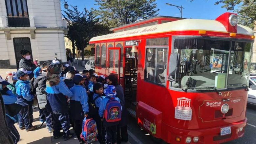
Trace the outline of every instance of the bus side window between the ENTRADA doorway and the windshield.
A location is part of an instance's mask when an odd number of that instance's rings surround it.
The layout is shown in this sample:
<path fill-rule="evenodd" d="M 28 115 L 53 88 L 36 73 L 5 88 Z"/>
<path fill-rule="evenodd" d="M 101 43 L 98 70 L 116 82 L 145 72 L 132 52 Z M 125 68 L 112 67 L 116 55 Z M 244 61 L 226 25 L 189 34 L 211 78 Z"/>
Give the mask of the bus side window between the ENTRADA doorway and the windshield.
<path fill-rule="evenodd" d="M 167 40 L 168 38 L 159 38 L 159 39 L 147 39 L 148 41 L 154 41 L 155 44 L 162 44 L 162 41 Z M 159 41 L 159 42 L 158 42 Z M 146 46 L 146 69 L 145 69 L 145 80 L 158 83 L 161 85 L 166 85 L 167 78 L 167 48 L 166 45 L 157 45 L 152 46 L 150 43 L 147 43 Z"/>

